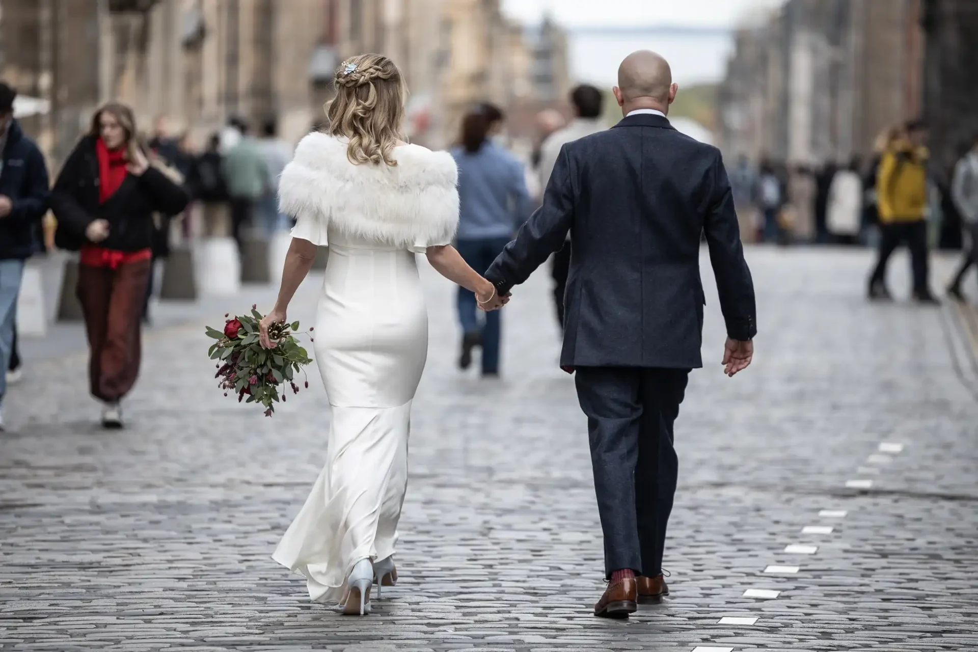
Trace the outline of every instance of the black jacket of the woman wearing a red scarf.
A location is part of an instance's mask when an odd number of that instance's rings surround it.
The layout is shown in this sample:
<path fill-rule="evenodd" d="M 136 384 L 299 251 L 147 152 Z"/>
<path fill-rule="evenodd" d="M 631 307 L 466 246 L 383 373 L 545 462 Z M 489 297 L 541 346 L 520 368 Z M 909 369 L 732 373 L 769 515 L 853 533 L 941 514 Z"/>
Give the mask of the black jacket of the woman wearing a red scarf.
<path fill-rule="evenodd" d="M 68 156 L 51 191 L 51 210 L 58 218 L 55 243 L 77 250 L 87 242 L 85 230 L 96 219 L 109 221 L 109 238 L 99 246 L 138 251 L 153 246 L 154 213 L 176 215 L 190 197 L 152 165 L 141 176 L 127 175 L 105 203 L 99 203 L 99 161 L 94 136 L 86 136 Z"/>

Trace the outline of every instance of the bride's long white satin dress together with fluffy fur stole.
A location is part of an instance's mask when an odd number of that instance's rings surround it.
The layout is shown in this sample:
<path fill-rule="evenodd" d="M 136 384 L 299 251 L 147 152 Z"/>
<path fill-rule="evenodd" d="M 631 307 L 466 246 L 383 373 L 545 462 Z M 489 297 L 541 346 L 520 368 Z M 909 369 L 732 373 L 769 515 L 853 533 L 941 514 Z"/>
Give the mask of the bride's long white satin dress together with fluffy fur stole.
<path fill-rule="evenodd" d="M 317 601 L 342 599 L 353 565 L 390 556 L 408 482 L 411 404 L 427 356 L 416 253 L 458 221 L 451 156 L 417 146 L 398 165 L 353 165 L 314 133 L 280 183 L 292 237 L 329 246 L 314 354 L 333 411 L 326 464 L 273 558 Z"/>

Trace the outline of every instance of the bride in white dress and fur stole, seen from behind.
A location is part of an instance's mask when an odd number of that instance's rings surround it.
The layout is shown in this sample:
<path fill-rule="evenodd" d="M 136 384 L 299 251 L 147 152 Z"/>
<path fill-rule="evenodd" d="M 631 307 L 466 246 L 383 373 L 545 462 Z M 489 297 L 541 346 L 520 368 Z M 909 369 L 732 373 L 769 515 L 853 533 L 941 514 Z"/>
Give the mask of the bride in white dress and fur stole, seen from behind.
<path fill-rule="evenodd" d="M 411 403 L 427 356 L 427 311 L 415 254 L 475 292 L 506 302 L 450 244 L 459 220 L 451 154 L 400 138 L 405 86 L 389 59 L 361 55 L 336 70 L 325 133 L 307 135 L 282 173 L 279 203 L 296 219 L 275 307 L 329 246 L 315 354 L 333 411 L 326 465 L 273 558 L 305 576 L 309 596 L 370 613 L 372 585 L 397 581 L 394 546 L 408 482 Z"/>

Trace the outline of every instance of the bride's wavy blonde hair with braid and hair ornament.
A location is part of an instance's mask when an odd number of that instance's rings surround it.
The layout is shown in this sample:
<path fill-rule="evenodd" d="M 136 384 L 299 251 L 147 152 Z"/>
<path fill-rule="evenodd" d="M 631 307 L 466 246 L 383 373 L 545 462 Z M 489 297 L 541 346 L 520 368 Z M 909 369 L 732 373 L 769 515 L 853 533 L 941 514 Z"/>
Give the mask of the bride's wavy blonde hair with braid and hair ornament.
<path fill-rule="evenodd" d="M 328 134 L 349 141 L 353 164 L 397 165 L 391 156 L 401 140 L 404 96 L 401 71 L 382 55 L 359 55 L 336 68 L 336 97 L 327 105 Z"/>

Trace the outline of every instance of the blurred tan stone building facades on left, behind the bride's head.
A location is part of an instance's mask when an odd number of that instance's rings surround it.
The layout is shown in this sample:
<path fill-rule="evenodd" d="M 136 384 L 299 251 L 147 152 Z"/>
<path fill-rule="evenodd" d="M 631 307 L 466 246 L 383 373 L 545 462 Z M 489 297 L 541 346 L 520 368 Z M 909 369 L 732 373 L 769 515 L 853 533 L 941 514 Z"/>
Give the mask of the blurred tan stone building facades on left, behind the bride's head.
<path fill-rule="evenodd" d="M 0 0 L 0 76 L 50 101 L 25 126 L 55 161 L 110 99 L 198 143 L 232 116 L 274 116 L 297 140 L 325 119 L 335 66 L 363 52 L 401 66 L 409 135 L 431 147 L 478 101 L 521 115 L 569 86 L 562 29 L 524 29 L 499 0 Z"/>

